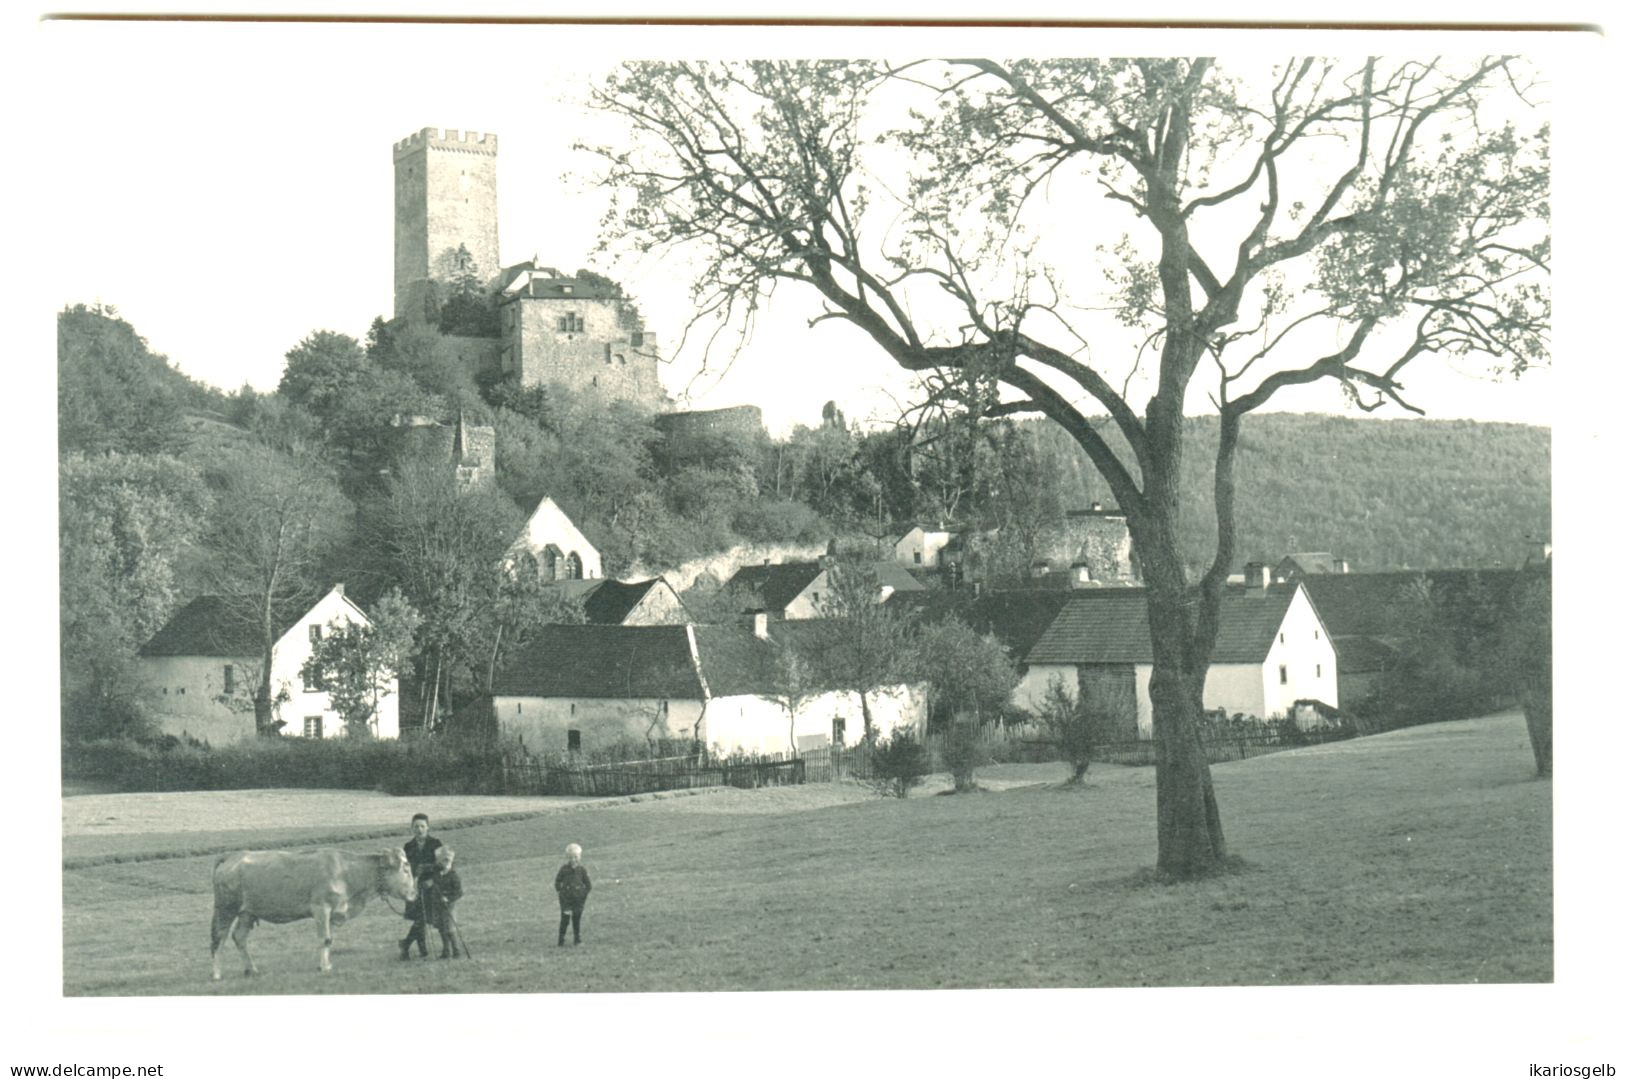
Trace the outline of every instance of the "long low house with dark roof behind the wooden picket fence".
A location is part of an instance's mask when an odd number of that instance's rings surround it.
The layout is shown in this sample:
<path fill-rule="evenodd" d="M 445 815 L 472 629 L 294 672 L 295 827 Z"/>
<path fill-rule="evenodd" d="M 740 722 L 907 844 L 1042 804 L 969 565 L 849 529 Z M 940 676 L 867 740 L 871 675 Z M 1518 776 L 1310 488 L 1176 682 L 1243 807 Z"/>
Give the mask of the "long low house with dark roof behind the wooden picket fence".
<path fill-rule="evenodd" d="M 774 632 L 778 632 L 778 626 Z M 492 682 L 504 734 L 531 752 L 587 752 L 655 738 L 718 752 L 791 752 L 863 734 L 850 691 L 793 691 L 767 621 L 743 626 L 546 626 Z M 791 702 L 795 707 L 791 708 Z M 925 691 L 869 696 L 878 736 L 925 720 Z"/>

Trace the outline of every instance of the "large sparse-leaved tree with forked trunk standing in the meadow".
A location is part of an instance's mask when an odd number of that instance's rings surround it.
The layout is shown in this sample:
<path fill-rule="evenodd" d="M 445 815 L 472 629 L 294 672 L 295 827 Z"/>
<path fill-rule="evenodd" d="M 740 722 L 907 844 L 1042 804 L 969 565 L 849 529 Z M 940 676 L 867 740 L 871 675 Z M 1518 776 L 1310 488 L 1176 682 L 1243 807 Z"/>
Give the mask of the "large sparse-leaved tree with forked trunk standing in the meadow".
<path fill-rule="evenodd" d="M 1146 580 L 1157 864 L 1181 879 L 1225 863 L 1198 717 L 1243 418 L 1316 382 L 1420 411 L 1404 380 L 1424 356 L 1544 359 L 1531 78 L 1506 57 L 637 63 L 595 101 L 626 127 L 600 151 L 618 232 L 686 249 L 702 317 L 748 327 L 790 281 L 878 362 L 1077 440 Z M 1202 398 L 1219 538 L 1186 567 Z"/>

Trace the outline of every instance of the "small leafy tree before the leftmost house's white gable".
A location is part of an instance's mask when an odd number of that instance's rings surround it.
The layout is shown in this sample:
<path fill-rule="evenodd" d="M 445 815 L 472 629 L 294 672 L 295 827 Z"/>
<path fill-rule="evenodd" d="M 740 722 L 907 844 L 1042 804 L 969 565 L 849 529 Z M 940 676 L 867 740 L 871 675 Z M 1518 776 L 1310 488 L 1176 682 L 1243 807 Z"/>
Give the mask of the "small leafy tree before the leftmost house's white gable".
<path fill-rule="evenodd" d="M 398 590 L 372 608 L 372 624 L 335 619 L 299 670 L 307 684 L 322 686 L 344 720 L 348 738 L 372 738 L 379 704 L 413 653 L 422 618 Z"/>

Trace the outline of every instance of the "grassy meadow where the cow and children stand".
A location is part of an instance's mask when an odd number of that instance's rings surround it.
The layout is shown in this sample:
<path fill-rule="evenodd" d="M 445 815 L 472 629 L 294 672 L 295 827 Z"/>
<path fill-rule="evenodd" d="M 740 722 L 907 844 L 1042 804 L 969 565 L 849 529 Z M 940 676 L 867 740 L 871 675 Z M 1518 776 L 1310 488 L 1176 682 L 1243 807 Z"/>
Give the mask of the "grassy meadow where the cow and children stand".
<path fill-rule="evenodd" d="M 310 921 L 262 925 L 258 978 L 228 944 L 211 983 L 213 855 L 366 829 L 65 838 L 63 991 L 80 994 L 559 993 L 1471 983 L 1552 980 L 1552 788 L 1518 713 L 1214 767 L 1237 873 L 1150 881 L 1150 769 L 1003 765 L 999 790 L 904 801 L 806 786 L 644 798 L 445 822 L 470 962 L 400 962 L 406 923 L 374 902 L 317 975 Z M 938 783 L 939 786 L 941 783 Z M 177 798 L 177 796 L 166 796 Z M 179 796 L 206 811 L 211 795 Z M 405 821 L 411 800 L 398 800 Z M 405 830 L 403 827 L 400 829 Z M 567 842 L 595 890 L 557 947 Z M 382 840 L 346 842 L 370 850 Z M 434 952 L 431 951 L 431 956 Z"/>

